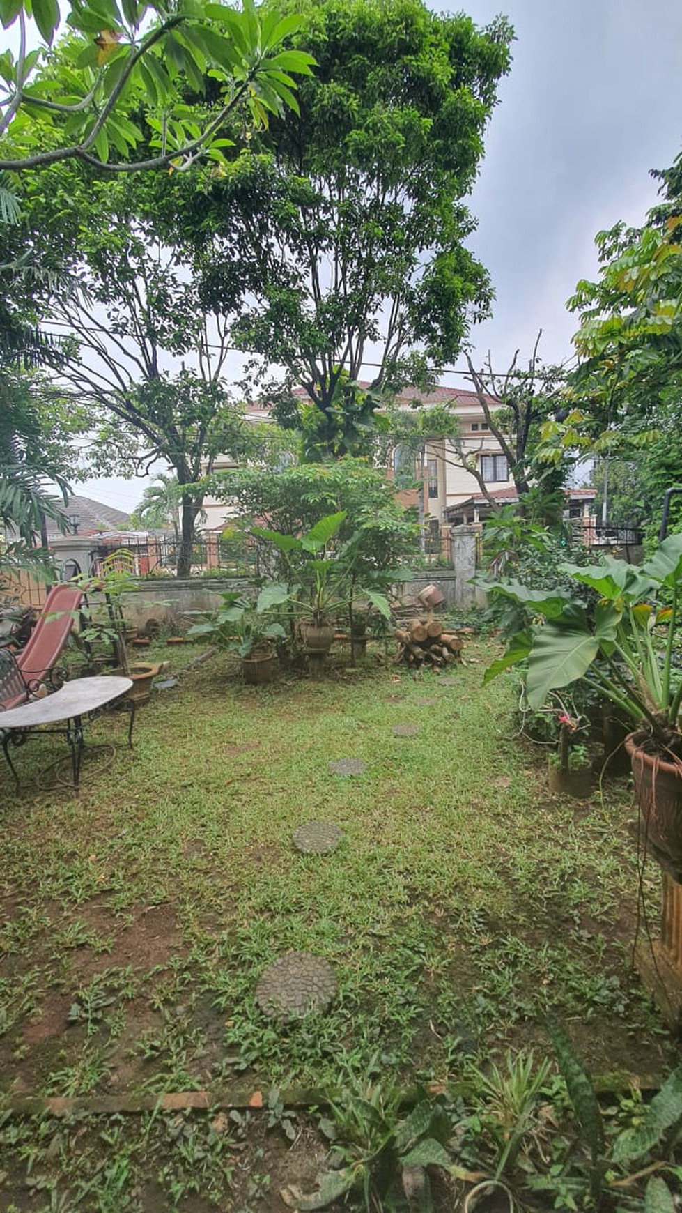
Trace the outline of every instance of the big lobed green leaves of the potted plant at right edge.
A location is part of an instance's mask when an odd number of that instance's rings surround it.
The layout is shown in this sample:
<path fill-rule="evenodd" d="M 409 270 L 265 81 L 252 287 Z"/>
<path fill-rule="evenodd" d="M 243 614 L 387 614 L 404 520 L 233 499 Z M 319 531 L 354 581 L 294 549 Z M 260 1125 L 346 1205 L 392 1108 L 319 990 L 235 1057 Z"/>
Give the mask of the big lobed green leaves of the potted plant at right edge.
<path fill-rule="evenodd" d="M 535 622 L 512 637 L 485 680 L 527 661 L 527 699 L 539 710 L 550 690 L 581 678 L 635 728 L 651 733 L 657 747 L 682 756 L 682 677 L 675 665 L 682 535 L 670 535 L 643 565 L 606 557 L 589 568 L 564 564 L 562 571 L 598 594 L 594 611 L 554 590 L 517 581 L 488 586 L 531 609 Z"/>

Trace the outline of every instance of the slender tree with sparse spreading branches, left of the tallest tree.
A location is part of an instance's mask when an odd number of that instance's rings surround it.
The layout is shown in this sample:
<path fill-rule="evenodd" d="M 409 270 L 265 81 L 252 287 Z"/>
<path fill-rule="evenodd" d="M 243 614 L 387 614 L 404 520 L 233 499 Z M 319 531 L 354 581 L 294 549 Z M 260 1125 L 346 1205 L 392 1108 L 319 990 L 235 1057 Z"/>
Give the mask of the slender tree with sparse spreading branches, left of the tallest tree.
<path fill-rule="evenodd" d="M 239 455 L 247 434 L 223 385 L 228 335 L 201 307 L 191 268 L 161 245 L 147 212 L 149 180 L 99 181 L 55 165 L 22 182 L 22 232 L 40 254 L 58 241 L 80 283 L 59 281 L 45 319 L 70 334 L 58 380 L 88 409 L 96 471 L 131 474 L 165 461 L 179 486 L 178 575 L 189 574 L 204 494 L 194 488 L 218 454 Z M 191 488 L 190 488 L 191 486 Z"/>

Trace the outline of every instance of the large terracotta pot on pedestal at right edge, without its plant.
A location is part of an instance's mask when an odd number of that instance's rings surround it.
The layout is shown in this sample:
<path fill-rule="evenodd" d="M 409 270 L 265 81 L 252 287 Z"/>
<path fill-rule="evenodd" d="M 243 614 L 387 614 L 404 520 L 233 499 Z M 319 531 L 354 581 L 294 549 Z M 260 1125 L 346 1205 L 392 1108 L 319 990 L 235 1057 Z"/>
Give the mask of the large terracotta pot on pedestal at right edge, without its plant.
<path fill-rule="evenodd" d="M 643 838 L 682 867 L 682 762 L 674 763 L 642 748 L 646 733 L 625 738 L 630 754 Z"/>

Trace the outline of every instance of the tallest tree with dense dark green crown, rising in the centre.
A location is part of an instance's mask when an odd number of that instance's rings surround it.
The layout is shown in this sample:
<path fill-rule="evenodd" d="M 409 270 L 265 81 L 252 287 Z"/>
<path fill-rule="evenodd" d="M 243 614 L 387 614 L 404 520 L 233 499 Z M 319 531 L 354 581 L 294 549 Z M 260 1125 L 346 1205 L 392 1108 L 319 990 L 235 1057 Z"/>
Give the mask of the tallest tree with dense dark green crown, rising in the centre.
<path fill-rule="evenodd" d="M 379 363 L 374 389 L 424 382 L 488 308 L 462 200 L 511 30 L 437 17 L 420 0 L 288 7 L 317 61 L 299 113 L 220 172 L 177 181 L 166 223 L 194 249 L 205 304 L 240 313 L 233 336 L 254 369 L 285 369 L 277 420 L 338 456 L 362 449 L 380 404 L 359 385 L 367 359 Z"/>

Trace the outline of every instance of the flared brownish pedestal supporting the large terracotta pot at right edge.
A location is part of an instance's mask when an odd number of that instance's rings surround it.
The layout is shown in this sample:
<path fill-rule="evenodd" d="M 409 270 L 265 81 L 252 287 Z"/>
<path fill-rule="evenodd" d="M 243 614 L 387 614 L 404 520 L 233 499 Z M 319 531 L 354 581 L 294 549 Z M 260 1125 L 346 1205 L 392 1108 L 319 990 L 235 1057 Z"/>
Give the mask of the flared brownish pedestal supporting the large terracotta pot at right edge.
<path fill-rule="evenodd" d="M 640 938 L 635 964 L 665 1023 L 682 1033 L 682 884 L 663 872 L 660 938 Z"/>

